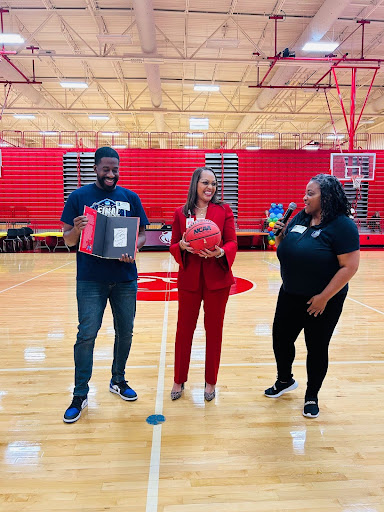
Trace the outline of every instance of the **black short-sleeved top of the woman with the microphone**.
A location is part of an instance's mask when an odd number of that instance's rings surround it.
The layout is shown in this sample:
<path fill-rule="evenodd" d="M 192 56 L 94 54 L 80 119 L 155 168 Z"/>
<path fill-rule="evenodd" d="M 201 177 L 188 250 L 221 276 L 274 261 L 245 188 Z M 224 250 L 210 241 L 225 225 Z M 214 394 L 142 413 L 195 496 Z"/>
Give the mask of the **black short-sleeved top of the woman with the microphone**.
<path fill-rule="evenodd" d="M 360 248 L 353 220 L 339 215 L 310 227 L 304 210 L 289 223 L 277 248 L 283 288 L 287 293 L 312 297 L 321 293 L 340 269 L 337 256 Z M 348 284 L 339 293 L 347 293 Z"/>

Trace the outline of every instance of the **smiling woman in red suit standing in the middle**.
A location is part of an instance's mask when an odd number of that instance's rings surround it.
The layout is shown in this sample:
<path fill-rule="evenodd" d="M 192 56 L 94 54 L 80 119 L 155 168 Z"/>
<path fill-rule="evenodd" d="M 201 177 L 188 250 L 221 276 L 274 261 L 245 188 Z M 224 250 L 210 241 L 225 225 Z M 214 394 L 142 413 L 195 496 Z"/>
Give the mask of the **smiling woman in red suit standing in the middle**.
<path fill-rule="evenodd" d="M 195 221 L 209 219 L 221 231 L 220 246 L 197 253 L 184 239 L 186 229 Z M 231 267 L 237 250 L 233 212 L 217 197 L 217 180 L 210 167 L 197 168 L 189 185 L 187 202 L 174 214 L 170 251 L 179 264 L 179 313 L 175 343 L 172 400 L 181 397 L 188 378 L 192 338 L 204 302 L 206 332 L 204 398 L 215 397 L 220 365 L 225 307 L 231 285 L 235 282 Z"/>

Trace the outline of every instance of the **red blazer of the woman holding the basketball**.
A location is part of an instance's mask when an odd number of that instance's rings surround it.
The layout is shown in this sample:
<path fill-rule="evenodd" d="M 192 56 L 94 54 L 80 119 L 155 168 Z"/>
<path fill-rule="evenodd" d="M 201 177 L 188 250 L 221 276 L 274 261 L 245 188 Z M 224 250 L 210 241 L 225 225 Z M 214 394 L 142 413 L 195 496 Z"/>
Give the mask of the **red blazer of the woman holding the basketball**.
<path fill-rule="evenodd" d="M 209 290 L 219 290 L 231 286 L 235 280 L 231 271 L 237 251 L 237 238 L 233 212 L 228 204 L 209 203 L 205 218 L 215 222 L 221 231 L 220 247 L 225 250 L 222 258 L 202 258 L 180 249 L 179 242 L 186 231 L 186 216 L 183 206 L 175 211 L 172 224 L 170 251 L 179 267 L 178 287 L 180 290 L 196 291 L 200 273 Z"/>

